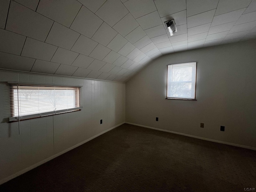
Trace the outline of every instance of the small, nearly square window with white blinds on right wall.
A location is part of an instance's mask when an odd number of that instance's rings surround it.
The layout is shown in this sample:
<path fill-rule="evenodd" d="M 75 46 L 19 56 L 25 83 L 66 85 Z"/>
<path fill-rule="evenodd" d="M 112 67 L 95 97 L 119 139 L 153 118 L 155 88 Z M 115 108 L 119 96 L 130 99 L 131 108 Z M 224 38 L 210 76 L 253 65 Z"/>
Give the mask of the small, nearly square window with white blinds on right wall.
<path fill-rule="evenodd" d="M 196 62 L 167 66 L 167 99 L 196 100 Z"/>

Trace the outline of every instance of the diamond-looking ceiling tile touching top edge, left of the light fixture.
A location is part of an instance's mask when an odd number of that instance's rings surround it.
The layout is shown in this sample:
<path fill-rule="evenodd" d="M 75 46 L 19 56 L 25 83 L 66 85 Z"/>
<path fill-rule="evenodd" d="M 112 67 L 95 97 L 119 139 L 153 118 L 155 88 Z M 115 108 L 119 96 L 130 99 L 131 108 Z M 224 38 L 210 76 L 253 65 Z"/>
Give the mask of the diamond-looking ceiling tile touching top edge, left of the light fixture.
<path fill-rule="evenodd" d="M 112 27 L 128 13 L 120 0 L 107 0 L 95 14 Z"/>

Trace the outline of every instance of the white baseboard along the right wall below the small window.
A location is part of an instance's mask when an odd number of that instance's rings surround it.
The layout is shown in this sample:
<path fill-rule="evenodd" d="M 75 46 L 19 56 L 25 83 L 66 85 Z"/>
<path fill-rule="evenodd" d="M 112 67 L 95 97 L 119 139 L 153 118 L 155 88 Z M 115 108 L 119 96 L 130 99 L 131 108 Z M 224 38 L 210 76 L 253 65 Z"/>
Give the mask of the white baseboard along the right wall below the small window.
<path fill-rule="evenodd" d="M 174 133 L 174 134 L 178 134 L 178 135 L 183 135 L 183 136 L 188 136 L 188 137 L 192 137 L 192 138 L 202 139 L 202 140 L 206 140 L 206 141 L 211 141 L 211 142 L 216 142 L 216 143 L 221 143 L 221 144 L 226 144 L 226 145 L 232 145 L 232 146 L 242 147 L 242 148 L 251 149 L 251 150 L 256 150 L 255 147 L 250 147 L 250 146 L 245 146 L 245 145 L 240 145 L 240 144 L 235 144 L 235 143 L 229 143 L 229 142 L 219 141 L 219 140 L 214 140 L 214 139 L 208 139 L 208 138 L 204 138 L 204 137 L 198 137 L 198 136 L 194 136 L 194 135 L 189 135 L 189 134 L 184 134 L 184 133 L 179 133 L 179 132 L 174 132 L 174 131 L 169 131 L 169 130 L 164 130 L 164 129 L 159 129 L 159 128 L 154 128 L 154 127 L 135 124 L 135 123 L 130 123 L 130 122 L 125 122 L 125 123 L 140 126 L 140 127 L 150 128 L 150 129 L 154 129 L 154 130 L 158 130 L 158 131 L 164 131 L 164 132 L 168 132 L 168 133 Z"/>

